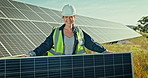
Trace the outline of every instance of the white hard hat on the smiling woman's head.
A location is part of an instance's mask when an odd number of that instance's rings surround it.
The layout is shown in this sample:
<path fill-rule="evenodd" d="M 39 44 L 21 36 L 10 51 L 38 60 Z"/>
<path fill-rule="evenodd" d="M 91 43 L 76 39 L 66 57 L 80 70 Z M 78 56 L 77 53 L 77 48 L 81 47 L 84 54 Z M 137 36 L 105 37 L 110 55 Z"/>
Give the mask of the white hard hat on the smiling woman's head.
<path fill-rule="evenodd" d="M 63 7 L 62 16 L 74 16 L 74 15 L 76 15 L 76 10 L 72 5 L 67 4 Z"/>

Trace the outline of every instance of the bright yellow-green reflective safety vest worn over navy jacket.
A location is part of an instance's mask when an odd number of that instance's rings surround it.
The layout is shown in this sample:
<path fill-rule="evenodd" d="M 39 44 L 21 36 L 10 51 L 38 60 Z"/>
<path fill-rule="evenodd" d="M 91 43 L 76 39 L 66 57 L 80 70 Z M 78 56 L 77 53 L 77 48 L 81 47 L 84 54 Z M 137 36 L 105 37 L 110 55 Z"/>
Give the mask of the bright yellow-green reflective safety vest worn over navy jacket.
<path fill-rule="evenodd" d="M 75 54 L 86 54 L 84 48 L 84 35 L 80 27 L 76 28 L 76 37 L 78 39 L 78 44 L 76 46 Z M 53 33 L 53 48 L 48 51 L 48 56 L 54 55 L 64 55 L 64 42 L 62 30 L 59 30 L 59 27 L 54 28 Z"/>

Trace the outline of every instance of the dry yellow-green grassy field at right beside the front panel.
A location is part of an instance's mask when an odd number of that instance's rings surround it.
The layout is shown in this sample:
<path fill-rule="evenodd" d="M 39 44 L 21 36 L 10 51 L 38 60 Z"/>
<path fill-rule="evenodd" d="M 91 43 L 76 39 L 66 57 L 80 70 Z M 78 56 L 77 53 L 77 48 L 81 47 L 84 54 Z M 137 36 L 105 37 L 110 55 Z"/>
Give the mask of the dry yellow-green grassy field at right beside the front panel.
<path fill-rule="evenodd" d="M 148 35 L 127 41 L 131 43 L 102 45 L 112 52 L 132 52 L 135 78 L 148 78 Z"/>

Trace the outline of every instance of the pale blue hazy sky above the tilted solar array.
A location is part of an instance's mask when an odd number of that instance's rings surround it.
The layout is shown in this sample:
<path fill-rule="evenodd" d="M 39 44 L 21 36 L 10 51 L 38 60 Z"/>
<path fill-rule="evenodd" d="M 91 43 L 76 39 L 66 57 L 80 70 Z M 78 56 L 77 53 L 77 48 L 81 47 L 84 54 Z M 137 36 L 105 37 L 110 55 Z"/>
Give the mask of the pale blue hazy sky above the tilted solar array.
<path fill-rule="evenodd" d="M 78 15 L 112 21 L 124 25 L 137 25 L 148 16 L 148 0 L 16 0 L 41 7 L 62 10 L 65 4 L 76 8 Z"/>

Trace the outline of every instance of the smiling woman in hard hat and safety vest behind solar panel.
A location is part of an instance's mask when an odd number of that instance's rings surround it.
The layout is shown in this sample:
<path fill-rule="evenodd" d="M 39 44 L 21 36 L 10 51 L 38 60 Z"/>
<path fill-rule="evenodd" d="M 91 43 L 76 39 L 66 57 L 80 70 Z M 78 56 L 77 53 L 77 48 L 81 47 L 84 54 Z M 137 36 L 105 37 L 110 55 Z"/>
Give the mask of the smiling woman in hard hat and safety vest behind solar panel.
<path fill-rule="evenodd" d="M 85 47 L 99 53 L 108 52 L 80 27 L 74 27 L 75 15 L 75 8 L 69 4 L 65 5 L 62 9 L 64 24 L 59 28 L 53 28 L 46 40 L 26 56 L 41 56 L 46 52 L 48 56 L 86 54 Z"/>

